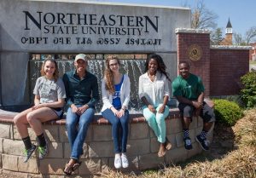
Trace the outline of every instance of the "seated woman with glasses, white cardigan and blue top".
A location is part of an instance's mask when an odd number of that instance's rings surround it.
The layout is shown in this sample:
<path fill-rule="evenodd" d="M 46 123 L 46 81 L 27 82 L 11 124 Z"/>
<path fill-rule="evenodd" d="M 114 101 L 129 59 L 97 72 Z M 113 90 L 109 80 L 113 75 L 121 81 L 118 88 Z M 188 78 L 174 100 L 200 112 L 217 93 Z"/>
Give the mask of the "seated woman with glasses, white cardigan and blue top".
<path fill-rule="evenodd" d="M 130 100 L 130 79 L 119 72 L 120 62 L 110 55 L 105 61 L 105 75 L 102 79 L 102 116 L 112 124 L 114 167 L 129 166 L 126 156 Z"/>

